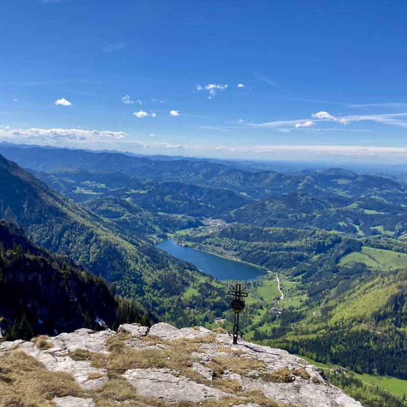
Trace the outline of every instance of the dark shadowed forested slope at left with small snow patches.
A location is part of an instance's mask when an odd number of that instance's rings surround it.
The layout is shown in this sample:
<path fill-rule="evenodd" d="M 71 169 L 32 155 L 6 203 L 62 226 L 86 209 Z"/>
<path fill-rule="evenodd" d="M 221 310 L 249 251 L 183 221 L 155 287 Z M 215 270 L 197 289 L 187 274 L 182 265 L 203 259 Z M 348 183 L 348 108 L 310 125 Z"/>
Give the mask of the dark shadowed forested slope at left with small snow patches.
<path fill-rule="evenodd" d="M 127 315 L 125 315 L 127 314 Z M 0 221 L 0 335 L 30 339 L 87 327 L 148 322 L 145 311 L 114 294 L 101 277 L 29 241 Z"/>

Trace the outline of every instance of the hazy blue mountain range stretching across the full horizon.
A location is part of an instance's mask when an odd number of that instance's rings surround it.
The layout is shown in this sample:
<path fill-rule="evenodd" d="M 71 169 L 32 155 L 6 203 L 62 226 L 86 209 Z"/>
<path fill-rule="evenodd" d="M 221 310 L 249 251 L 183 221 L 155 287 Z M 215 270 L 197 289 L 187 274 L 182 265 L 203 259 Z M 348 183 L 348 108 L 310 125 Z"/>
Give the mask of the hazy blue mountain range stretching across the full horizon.
<path fill-rule="evenodd" d="M 206 160 L 151 160 L 120 153 L 91 153 L 68 149 L 20 149 L 0 146 L 0 153 L 24 168 L 51 172 L 60 167 L 88 171 L 122 172 L 145 180 L 203 184 L 227 188 L 258 199 L 303 192 L 314 197 L 370 197 L 405 205 L 405 186 L 388 178 L 358 175 L 338 168 L 283 175 L 272 170 L 248 171 Z M 350 202 L 351 203 L 351 202 Z"/>

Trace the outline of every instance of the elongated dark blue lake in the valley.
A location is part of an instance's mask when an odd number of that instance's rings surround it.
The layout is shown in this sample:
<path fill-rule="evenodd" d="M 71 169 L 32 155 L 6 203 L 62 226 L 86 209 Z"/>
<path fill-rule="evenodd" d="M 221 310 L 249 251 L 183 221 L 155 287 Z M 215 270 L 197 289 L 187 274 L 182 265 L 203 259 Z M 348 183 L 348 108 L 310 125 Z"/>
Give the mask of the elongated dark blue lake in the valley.
<path fill-rule="evenodd" d="M 259 280 L 267 274 L 266 271 L 260 270 L 257 267 L 250 266 L 246 263 L 229 260 L 224 257 L 216 256 L 215 254 L 192 249 L 191 247 L 180 246 L 170 239 L 159 243 L 156 247 L 166 251 L 174 257 L 180 258 L 181 260 L 189 261 L 189 263 L 195 265 L 199 270 L 210 274 L 221 281 Z"/>

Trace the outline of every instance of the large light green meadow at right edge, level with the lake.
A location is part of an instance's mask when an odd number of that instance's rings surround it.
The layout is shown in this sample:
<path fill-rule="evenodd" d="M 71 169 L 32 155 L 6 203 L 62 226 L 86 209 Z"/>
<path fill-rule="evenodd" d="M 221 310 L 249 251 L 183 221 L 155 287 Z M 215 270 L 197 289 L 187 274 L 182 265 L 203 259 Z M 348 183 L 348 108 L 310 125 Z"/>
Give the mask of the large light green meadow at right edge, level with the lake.
<path fill-rule="evenodd" d="M 353 261 L 381 269 L 388 269 L 389 267 L 407 269 L 407 254 L 398 253 L 393 250 L 374 249 L 367 246 L 363 246 L 361 252 L 353 252 L 342 257 L 339 265 L 350 264 Z"/>

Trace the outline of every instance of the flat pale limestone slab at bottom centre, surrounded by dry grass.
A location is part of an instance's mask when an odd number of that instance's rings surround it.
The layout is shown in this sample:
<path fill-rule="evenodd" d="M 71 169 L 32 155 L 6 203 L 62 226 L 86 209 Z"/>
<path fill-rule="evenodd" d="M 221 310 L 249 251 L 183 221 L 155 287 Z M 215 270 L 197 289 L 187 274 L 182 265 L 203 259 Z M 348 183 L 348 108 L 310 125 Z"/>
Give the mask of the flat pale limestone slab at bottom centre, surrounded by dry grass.
<path fill-rule="evenodd" d="M 218 400 L 227 393 L 192 382 L 184 376 L 175 376 L 169 369 L 130 369 L 123 376 L 146 397 L 160 398 L 167 403 Z"/>

